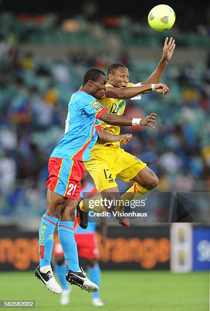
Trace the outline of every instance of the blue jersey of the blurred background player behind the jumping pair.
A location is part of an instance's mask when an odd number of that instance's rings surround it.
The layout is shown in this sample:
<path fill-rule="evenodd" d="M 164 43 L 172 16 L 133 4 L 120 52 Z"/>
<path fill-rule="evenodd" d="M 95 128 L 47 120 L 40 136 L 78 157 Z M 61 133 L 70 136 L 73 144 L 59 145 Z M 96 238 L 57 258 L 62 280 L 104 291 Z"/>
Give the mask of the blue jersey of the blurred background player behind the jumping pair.
<path fill-rule="evenodd" d="M 80 195 L 82 197 L 86 197 L 86 194 L 91 194 L 96 191 L 95 185 L 91 182 L 87 182 L 85 186 L 81 189 Z M 88 226 L 86 229 L 81 228 L 78 224 L 77 227 L 75 227 L 74 232 L 75 234 L 88 234 L 88 233 L 95 233 L 96 229 L 96 223 L 93 223 L 93 217 L 91 217 L 91 222 L 88 222 Z"/>

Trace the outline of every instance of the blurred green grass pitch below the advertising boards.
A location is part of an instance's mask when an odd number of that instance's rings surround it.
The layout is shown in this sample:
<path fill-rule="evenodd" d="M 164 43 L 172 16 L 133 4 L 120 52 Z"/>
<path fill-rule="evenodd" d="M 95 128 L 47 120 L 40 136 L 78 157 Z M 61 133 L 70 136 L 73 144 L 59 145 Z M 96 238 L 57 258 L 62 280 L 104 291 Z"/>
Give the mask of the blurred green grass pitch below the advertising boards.
<path fill-rule="evenodd" d="M 35 300 L 37 310 L 92 311 L 91 293 L 74 286 L 67 306 L 30 272 L 0 272 L 1 300 Z M 209 274 L 169 271 L 102 271 L 101 298 L 106 311 L 207 311 Z M 28 309 L 28 308 L 27 308 Z"/>

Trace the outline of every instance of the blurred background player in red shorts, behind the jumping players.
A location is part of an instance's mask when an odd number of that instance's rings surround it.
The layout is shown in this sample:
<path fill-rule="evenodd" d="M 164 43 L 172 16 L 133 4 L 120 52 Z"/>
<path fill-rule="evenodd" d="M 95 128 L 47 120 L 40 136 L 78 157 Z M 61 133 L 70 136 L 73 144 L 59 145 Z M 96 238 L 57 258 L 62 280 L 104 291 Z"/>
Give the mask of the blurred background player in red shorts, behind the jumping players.
<path fill-rule="evenodd" d="M 87 171 L 86 171 L 87 173 Z M 97 190 L 93 183 L 85 181 L 83 179 L 81 185 L 81 196 L 84 198 L 92 198 Z M 103 238 L 103 243 L 107 235 L 107 225 L 103 217 L 101 217 L 101 235 Z M 97 236 L 95 233 L 96 223 L 89 222 L 87 229 L 82 229 L 75 219 L 74 232 L 75 241 L 77 243 L 78 256 L 85 260 L 85 266 L 88 270 L 90 280 L 94 282 L 98 287 L 100 287 L 100 267 L 98 265 L 98 245 Z M 60 284 L 62 286 L 62 294 L 60 297 L 60 303 L 66 305 L 69 303 L 69 296 L 72 292 L 72 288 L 67 285 L 65 274 L 67 272 L 67 265 L 64 259 L 64 254 L 61 244 L 58 242 L 55 244 L 54 249 L 54 270 L 59 278 Z M 102 306 L 103 302 L 100 299 L 99 291 L 92 293 L 92 304 L 94 306 Z"/>

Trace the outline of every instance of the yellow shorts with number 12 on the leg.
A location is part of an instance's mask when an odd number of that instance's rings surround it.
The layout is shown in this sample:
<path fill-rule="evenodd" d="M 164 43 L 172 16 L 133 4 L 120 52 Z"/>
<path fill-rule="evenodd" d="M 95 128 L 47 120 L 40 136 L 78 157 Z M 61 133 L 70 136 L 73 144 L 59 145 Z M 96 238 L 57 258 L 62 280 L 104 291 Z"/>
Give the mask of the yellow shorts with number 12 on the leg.
<path fill-rule="evenodd" d="M 99 192 L 116 187 L 116 177 L 130 182 L 147 166 L 119 146 L 101 147 L 91 156 L 91 161 L 86 161 L 84 164 Z"/>

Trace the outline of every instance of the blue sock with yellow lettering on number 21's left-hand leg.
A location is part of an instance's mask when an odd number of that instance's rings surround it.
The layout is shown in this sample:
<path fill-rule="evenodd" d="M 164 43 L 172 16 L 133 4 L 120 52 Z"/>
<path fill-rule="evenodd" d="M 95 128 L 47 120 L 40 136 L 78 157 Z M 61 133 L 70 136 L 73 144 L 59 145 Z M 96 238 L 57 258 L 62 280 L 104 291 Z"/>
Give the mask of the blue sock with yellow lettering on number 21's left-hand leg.
<path fill-rule="evenodd" d="M 56 217 L 51 217 L 46 214 L 42 216 L 42 222 L 39 231 L 40 267 L 50 265 L 54 242 L 53 234 L 57 222 L 58 219 Z"/>

